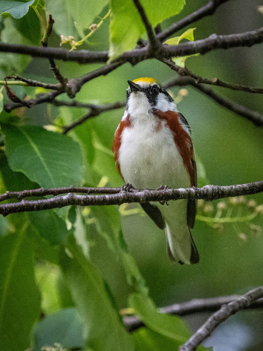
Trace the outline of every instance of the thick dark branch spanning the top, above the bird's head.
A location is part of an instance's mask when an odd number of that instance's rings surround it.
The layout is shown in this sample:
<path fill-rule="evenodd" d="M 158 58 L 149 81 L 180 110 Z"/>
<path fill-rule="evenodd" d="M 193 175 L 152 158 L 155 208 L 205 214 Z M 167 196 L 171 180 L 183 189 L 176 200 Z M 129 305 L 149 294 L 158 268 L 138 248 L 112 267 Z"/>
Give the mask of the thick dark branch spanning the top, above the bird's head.
<path fill-rule="evenodd" d="M 171 58 L 175 56 L 186 56 L 191 54 L 205 54 L 215 49 L 229 49 L 233 47 L 252 46 L 263 41 L 263 27 L 255 31 L 216 35 L 201 40 L 189 41 L 179 45 L 161 45 L 155 55 L 148 47 L 137 48 L 124 52 L 116 62 L 123 64 L 130 62 L 136 64 L 149 58 Z M 31 55 L 32 57 L 53 58 L 63 61 L 78 62 L 79 64 L 94 64 L 108 61 L 108 51 L 69 51 L 63 48 L 26 46 L 20 44 L 0 43 L 0 52 Z"/>

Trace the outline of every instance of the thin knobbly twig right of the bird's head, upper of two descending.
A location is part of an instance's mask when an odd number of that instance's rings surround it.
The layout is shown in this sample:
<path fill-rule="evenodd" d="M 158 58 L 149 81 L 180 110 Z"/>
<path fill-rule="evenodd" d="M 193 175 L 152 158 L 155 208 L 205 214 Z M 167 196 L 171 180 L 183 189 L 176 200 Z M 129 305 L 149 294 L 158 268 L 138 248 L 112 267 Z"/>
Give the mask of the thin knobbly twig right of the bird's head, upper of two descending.
<path fill-rule="evenodd" d="M 214 79 L 202 78 L 200 75 L 197 75 L 197 74 L 191 72 L 186 67 L 177 66 L 171 60 L 163 59 L 163 60 L 160 60 L 160 61 L 165 63 L 167 66 L 169 66 L 171 69 L 173 69 L 178 74 L 180 74 L 182 76 L 187 76 L 187 77 L 193 78 L 195 80 L 195 82 L 198 83 L 198 84 L 203 83 L 203 84 L 216 85 L 216 86 L 219 86 L 219 87 L 228 88 L 228 89 L 231 89 L 231 90 L 238 90 L 238 91 L 245 91 L 245 92 L 248 92 L 248 93 L 263 94 L 263 88 L 250 87 L 250 86 L 245 86 L 245 85 L 241 85 L 241 84 L 232 84 L 232 83 L 228 83 L 228 82 L 225 82 L 223 80 L 220 80 L 218 78 L 214 78 Z"/>

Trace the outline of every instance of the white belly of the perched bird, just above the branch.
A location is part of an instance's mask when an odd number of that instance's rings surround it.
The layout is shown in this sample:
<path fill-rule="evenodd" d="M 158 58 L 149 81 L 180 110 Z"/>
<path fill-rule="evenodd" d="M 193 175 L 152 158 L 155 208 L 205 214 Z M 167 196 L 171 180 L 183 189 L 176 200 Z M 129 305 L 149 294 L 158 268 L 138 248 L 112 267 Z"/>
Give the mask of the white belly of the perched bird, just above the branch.
<path fill-rule="evenodd" d="M 135 188 L 190 187 L 189 174 L 166 126 L 155 131 L 149 126 L 125 128 L 119 150 L 121 173 Z"/>

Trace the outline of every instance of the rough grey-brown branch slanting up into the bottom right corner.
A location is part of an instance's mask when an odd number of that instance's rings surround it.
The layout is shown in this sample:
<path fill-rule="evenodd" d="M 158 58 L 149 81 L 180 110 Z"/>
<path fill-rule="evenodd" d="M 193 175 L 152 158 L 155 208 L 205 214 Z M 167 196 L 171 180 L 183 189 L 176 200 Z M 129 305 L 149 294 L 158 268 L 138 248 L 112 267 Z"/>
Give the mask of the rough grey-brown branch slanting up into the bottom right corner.
<path fill-rule="evenodd" d="M 262 296 L 263 286 L 259 286 L 229 304 L 223 305 L 219 311 L 208 318 L 207 322 L 205 322 L 185 344 L 179 347 L 179 351 L 195 351 L 197 346 L 209 337 L 218 325 L 238 311 L 249 307 L 254 301 Z"/>

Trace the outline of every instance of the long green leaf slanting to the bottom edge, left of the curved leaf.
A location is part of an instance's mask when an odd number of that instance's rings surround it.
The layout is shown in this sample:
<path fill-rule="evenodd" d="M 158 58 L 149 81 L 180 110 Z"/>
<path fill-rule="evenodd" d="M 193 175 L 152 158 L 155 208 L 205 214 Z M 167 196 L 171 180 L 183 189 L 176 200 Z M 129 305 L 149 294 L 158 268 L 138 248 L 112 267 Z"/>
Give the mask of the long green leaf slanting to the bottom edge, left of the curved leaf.
<path fill-rule="evenodd" d="M 67 253 L 62 252 L 61 266 L 84 322 L 87 346 L 96 351 L 133 350 L 130 337 L 112 306 L 102 277 L 85 258 L 73 237 L 69 237 Z"/>

